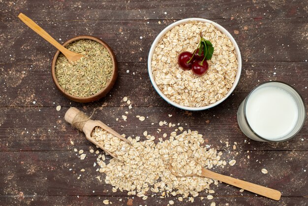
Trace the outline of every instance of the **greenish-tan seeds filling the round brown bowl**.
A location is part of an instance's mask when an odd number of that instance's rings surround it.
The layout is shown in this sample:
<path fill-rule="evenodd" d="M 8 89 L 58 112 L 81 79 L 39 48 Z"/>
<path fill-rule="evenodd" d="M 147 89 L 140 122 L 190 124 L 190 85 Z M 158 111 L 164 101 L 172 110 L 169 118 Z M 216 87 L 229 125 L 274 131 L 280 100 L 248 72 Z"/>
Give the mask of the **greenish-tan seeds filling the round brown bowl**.
<path fill-rule="evenodd" d="M 105 88 L 113 71 L 107 49 L 91 39 L 76 40 L 65 47 L 84 57 L 70 64 L 62 53 L 59 55 L 55 74 L 63 90 L 76 97 L 89 97 Z"/>

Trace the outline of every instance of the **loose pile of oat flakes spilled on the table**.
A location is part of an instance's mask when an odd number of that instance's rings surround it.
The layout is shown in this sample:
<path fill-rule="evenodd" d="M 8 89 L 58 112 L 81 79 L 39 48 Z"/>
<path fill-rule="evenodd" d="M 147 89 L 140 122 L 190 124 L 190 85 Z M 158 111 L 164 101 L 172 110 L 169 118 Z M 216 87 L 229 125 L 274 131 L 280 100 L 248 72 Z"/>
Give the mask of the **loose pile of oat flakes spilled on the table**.
<path fill-rule="evenodd" d="M 106 137 L 100 128 L 95 128 L 92 136 L 96 139 L 110 140 L 113 137 Z M 189 194 L 198 196 L 202 190 L 207 192 L 210 185 L 218 184 L 218 181 L 205 177 L 176 177 L 169 171 L 169 164 L 177 168 L 182 168 L 182 174 L 197 173 L 196 169 L 213 168 L 215 166 L 224 167 L 226 161 L 220 160 L 222 152 L 217 154 L 215 149 L 207 150 L 201 146 L 204 143 L 202 135 L 197 131 L 184 131 L 177 135 L 172 132 L 167 140 L 159 138 L 157 144 L 154 143 L 154 136 L 147 135 L 146 141 L 139 141 L 140 137 L 127 139 L 132 142 L 128 145 L 123 141 L 110 143 L 109 150 L 117 155 L 120 161 L 111 159 L 109 164 L 104 162 L 105 156 L 99 155 L 97 164 L 100 166 L 99 172 L 105 173 L 105 182 L 111 184 L 113 191 L 129 191 L 128 195 L 137 195 L 147 198 L 146 193 L 151 190 L 160 193 L 161 198 L 183 195 L 186 198 Z M 105 142 L 106 146 L 106 142 Z M 195 162 L 200 164 L 195 166 Z"/>

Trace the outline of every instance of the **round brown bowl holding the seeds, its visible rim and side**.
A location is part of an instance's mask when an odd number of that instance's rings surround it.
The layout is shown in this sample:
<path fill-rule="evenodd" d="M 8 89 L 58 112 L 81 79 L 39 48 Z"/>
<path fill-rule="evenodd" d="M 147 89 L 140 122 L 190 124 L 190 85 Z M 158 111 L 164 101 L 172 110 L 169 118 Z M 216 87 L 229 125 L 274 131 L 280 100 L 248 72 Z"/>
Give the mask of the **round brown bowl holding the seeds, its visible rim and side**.
<path fill-rule="evenodd" d="M 98 43 L 102 44 L 107 51 L 109 52 L 111 59 L 112 59 L 112 63 L 113 63 L 113 71 L 112 71 L 112 75 L 111 78 L 109 80 L 109 82 L 106 84 L 106 87 L 103 88 L 102 90 L 100 90 L 99 92 L 97 92 L 96 94 L 89 96 L 89 97 L 76 97 L 73 96 L 67 92 L 64 91 L 64 89 L 60 86 L 60 84 L 58 83 L 57 77 L 56 77 L 56 61 L 58 59 L 58 56 L 60 54 L 60 51 L 58 50 L 53 58 L 52 64 L 51 64 L 51 74 L 54 80 L 54 83 L 56 85 L 56 87 L 60 90 L 60 92 L 68 99 L 75 101 L 75 102 L 79 102 L 79 103 L 89 103 L 89 102 L 93 102 L 95 100 L 98 100 L 102 97 L 105 97 L 106 94 L 112 89 L 113 85 L 115 84 L 117 77 L 118 77 L 118 67 L 117 67 L 117 60 L 116 60 L 116 56 L 113 53 L 113 51 L 111 50 L 111 48 L 108 46 L 107 43 L 105 43 L 104 41 L 100 40 L 99 38 L 96 38 L 94 36 L 88 36 L 88 35 L 82 35 L 82 36 L 76 36 L 74 38 L 71 38 L 69 40 L 67 40 L 66 42 L 63 43 L 63 46 L 65 47 L 67 44 L 79 40 L 79 39 L 91 39 L 94 41 L 97 41 Z"/>

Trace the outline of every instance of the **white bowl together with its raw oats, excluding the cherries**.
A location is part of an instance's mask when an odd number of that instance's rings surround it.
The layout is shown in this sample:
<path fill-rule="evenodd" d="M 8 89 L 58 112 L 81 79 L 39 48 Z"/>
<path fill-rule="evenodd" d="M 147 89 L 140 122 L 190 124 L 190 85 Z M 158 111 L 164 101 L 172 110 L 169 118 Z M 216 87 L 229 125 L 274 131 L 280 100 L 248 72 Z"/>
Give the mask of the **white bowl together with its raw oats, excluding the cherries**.
<path fill-rule="evenodd" d="M 179 55 L 187 51 L 195 56 L 198 49 L 203 55 L 207 46 L 204 43 L 200 48 L 200 39 L 210 42 L 214 51 L 209 59 L 203 59 L 206 72 L 196 75 L 193 69 L 181 69 Z M 239 82 L 241 70 L 240 49 L 232 35 L 219 24 L 201 18 L 183 19 L 166 27 L 155 38 L 148 57 L 156 92 L 166 102 L 191 111 L 209 109 L 227 99 Z"/>

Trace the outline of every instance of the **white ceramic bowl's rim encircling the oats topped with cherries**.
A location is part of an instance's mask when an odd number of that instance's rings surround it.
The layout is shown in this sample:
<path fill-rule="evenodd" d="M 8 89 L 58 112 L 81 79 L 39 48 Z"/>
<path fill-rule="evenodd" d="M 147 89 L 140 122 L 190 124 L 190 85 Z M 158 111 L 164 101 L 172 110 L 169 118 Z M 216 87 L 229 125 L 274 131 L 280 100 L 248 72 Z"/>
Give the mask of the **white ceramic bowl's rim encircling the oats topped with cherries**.
<path fill-rule="evenodd" d="M 171 29 L 173 29 L 175 26 L 178 26 L 180 24 L 184 24 L 184 23 L 187 23 L 189 21 L 200 21 L 200 22 L 205 22 L 205 23 L 212 23 L 216 29 L 218 29 L 221 33 L 227 35 L 230 40 L 232 41 L 234 47 L 235 47 L 235 51 L 236 51 L 236 55 L 237 55 L 237 60 L 238 60 L 238 69 L 237 69 L 237 73 L 236 73 L 236 77 L 235 77 L 235 81 L 232 85 L 232 87 L 230 88 L 230 90 L 228 91 L 228 93 L 226 94 L 226 96 L 224 98 L 222 98 L 221 100 L 215 102 L 215 103 L 212 103 L 212 104 L 209 104 L 209 105 L 206 105 L 206 106 L 200 106 L 200 107 L 191 107 L 191 106 L 183 106 L 181 104 L 178 104 L 178 103 L 175 103 L 171 100 L 169 100 L 161 91 L 160 89 L 158 88 L 158 86 L 156 85 L 155 83 L 155 80 L 154 80 L 154 76 L 153 76 L 153 72 L 152 72 L 152 56 L 153 56 L 153 53 L 154 53 L 154 50 L 156 48 L 156 45 L 158 44 L 158 42 L 160 41 L 160 39 L 167 33 L 169 32 Z M 167 103 L 170 103 L 172 104 L 173 106 L 176 106 L 178 108 L 181 108 L 181 109 L 185 109 L 185 110 L 190 110 L 190 111 L 199 111 L 199 110 L 204 110 L 204 109 L 209 109 L 209 108 L 212 108 L 213 106 L 216 106 L 217 104 L 219 103 L 222 103 L 225 99 L 227 99 L 230 94 L 233 92 L 233 90 L 235 89 L 236 85 L 238 84 L 239 80 L 240 80 L 240 76 L 241 76 L 241 70 L 242 70 L 242 58 L 241 58 L 241 53 L 240 53 L 240 49 L 239 49 L 239 46 L 238 44 L 236 43 L 236 41 L 234 40 L 233 36 L 226 30 L 224 29 L 222 26 L 220 26 L 219 24 L 215 23 L 215 22 L 212 22 L 210 20 L 207 20 L 207 19 L 201 19 L 201 18 L 188 18 L 188 19 L 182 19 L 180 21 L 177 21 L 177 22 L 174 22 L 172 24 L 170 24 L 168 27 L 166 27 L 163 31 L 161 31 L 157 37 L 155 38 L 152 46 L 151 46 L 151 49 L 150 49 L 150 53 L 149 53 L 149 57 L 148 57 L 148 71 L 149 71 L 149 75 L 150 75 L 150 79 L 151 79 L 151 82 L 156 90 L 156 92 L 160 95 L 160 97 L 162 97 Z"/>

